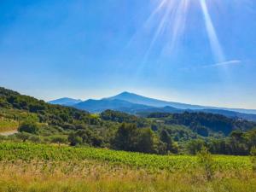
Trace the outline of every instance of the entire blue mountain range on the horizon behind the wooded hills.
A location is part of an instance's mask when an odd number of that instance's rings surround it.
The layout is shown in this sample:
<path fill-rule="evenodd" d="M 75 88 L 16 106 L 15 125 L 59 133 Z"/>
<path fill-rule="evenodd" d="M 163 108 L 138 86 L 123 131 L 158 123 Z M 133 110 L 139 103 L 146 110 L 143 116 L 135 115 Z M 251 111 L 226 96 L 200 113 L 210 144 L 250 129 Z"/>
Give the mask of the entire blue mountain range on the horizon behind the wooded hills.
<path fill-rule="evenodd" d="M 53 102 L 53 104 L 72 106 L 73 108 L 86 110 L 90 113 L 102 113 L 107 109 L 139 115 L 147 113 L 183 113 L 187 111 L 216 113 L 231 118 L 241 118 L 256 121 L 256 110 L 233 110 L 231 108 L 204 107 L 180 102 L 166 102 L 158 99 L 148 98 L 146 96 L 139 96 L 137 94 L 129 93 L 126 91 L 120 93 L 117 96 L 111 96 L 103 98 L 101 100 L 89 99 L 87 101 L 81 102 L 81 100 L 62 98 L 60 100 L 55 100 Z M 242 113 L 242 111 L 244 111 L 244 113 Z"/>

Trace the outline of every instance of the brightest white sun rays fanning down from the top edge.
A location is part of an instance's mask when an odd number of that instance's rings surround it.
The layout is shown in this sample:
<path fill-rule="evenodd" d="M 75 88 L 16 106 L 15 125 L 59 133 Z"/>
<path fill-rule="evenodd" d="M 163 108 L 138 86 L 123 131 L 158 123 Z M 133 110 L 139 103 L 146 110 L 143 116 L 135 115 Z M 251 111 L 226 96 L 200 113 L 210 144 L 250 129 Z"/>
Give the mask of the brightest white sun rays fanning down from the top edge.
<path fill-rule="evenodd" d="M 218 1 L 215 2 L 218 3 Z M 214 55 L 216 61 L 225 61 L 224 51 L 221 44 L 219 43 L 218 34 L 212 23 L 212 18 L 209 14 L 206 0 L 160 0 L 159 5 L 154 10 L 153 14 L 149 17 L 150 19 L 153 19 L 153 17 L 157 14 L 162 15 L 160 17 L 159 26 L 157 26 L 155 31 L 154 38 L 152 39 L 148 48 L 146 57 L 154 46 L 156 40 L 160 38 L 160 35 L 164 32 L 170 34 L 169 41 L 166 43 L 166 46 L 168 47 L 170 54 L 172 54 L 172 50 L 177 47 L 177 44 L 183 37 L 186 23 L 189 20 L 188 10 L 191 3 L 197 3 L 198 8 L 202 11 L 209 42 L 212 48 L 212 54 Z M 212 2 L 209 4 L 212 4 Z"/>

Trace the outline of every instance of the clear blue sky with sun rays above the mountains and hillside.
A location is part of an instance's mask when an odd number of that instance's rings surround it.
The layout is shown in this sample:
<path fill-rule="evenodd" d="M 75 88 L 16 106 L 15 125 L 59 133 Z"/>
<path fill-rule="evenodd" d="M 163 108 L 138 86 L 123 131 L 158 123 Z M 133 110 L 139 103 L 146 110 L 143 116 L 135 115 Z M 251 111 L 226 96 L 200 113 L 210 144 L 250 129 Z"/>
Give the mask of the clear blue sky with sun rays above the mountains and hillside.
<path fill-rule="evenodd" d="M 0 86 L 256 108 L 254 0 L 0 0 Z"/>

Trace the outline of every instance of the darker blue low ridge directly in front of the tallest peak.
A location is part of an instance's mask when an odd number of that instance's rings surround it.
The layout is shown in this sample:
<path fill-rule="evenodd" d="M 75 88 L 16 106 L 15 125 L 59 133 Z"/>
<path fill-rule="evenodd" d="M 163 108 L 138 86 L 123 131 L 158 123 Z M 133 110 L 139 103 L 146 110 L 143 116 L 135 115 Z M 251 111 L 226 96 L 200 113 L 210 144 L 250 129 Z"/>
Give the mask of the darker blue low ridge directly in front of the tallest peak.
<path fill-rule="evenodd" d="M 87 100 L 73 105 L 74 108 L 89 111 L 90 113 L 101 113 L 107 109 L 121 111 L 125 113 L 137 113 L 140 110 L 147 110 L 149 106 L 126 102 L 118 99 L 102 99 L 102 100 Z"/>

